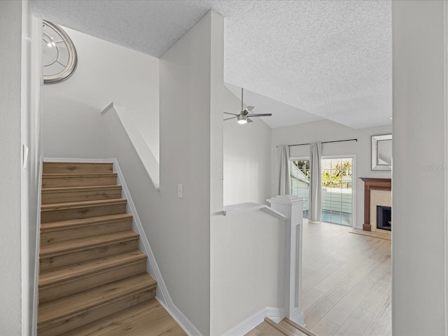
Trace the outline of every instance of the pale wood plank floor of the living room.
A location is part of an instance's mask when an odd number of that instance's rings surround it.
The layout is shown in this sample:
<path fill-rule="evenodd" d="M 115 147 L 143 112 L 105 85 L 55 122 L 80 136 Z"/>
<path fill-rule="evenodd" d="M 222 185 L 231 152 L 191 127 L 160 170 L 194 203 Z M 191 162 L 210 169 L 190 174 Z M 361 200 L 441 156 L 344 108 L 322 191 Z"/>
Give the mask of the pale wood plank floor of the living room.
<path fill-rule="evenodd" d="M 303 227 L 302 309 L 319 336 L 391 335 L 391 241 L 350 227 Z"/>

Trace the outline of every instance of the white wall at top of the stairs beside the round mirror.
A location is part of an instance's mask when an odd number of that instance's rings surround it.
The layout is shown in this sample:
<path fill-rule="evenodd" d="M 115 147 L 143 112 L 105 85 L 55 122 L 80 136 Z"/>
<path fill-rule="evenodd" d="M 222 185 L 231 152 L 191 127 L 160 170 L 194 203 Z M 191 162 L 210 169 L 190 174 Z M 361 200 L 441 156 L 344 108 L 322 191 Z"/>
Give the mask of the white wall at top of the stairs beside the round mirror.
<path fill-rule="evenodd" d="M 43 88 L 46 157 L 101 158 L 99 111 L 125 105 L 159 160 L 159 60 L 64 28 L 78 52 L 73 76 Z M 99 144 L 99 146 L 92 146 Z"/>

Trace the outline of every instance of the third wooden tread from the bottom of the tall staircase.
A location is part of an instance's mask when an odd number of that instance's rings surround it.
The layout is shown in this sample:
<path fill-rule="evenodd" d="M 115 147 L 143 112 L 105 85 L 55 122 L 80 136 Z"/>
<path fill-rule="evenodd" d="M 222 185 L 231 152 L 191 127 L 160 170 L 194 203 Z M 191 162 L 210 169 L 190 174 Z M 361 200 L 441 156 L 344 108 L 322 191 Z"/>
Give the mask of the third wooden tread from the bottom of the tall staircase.
<path fill-rule="evenodd" d="M 109 233 L 87 238 L 73 239 L 70 241 L 59 241 L 57 243 L 45 244 L 41 246 L 41 258 L 48 258 L 50 255 L 64 254 L 71 251 L 80 251 L 91 247 L 109 245 L 119 241 L 129 241 L 139 239 L 139 234 L 132 230 Z"/>

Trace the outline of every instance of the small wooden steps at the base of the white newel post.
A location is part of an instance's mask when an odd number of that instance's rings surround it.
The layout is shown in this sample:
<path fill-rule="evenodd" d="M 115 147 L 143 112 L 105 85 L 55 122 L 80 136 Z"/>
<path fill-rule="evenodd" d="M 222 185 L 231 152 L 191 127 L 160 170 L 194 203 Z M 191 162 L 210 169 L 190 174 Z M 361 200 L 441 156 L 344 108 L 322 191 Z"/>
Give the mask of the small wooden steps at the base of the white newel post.
<path fill-rule="evenodd" d="M 303 328 L 301 325 L 283 318 L 279 323 L 275 323 L 270 318 L 257 325 L 245 336 L 316 336 L 314 332 Z"/>

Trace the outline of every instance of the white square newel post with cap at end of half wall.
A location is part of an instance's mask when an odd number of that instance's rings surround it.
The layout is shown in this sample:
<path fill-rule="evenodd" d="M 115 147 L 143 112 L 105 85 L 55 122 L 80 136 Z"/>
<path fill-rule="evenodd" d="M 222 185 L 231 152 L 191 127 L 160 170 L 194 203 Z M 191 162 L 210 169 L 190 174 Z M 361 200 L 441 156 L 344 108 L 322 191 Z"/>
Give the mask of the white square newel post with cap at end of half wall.
<path fill-rule="evenodd" d="M 267 200 L 272 209 L 286 216 L 285 228 L 285 315 L 304 325 L 302 311 L 302 223 L 303 199 L 292 195 L 280 195 Z"/>

